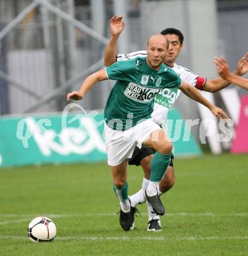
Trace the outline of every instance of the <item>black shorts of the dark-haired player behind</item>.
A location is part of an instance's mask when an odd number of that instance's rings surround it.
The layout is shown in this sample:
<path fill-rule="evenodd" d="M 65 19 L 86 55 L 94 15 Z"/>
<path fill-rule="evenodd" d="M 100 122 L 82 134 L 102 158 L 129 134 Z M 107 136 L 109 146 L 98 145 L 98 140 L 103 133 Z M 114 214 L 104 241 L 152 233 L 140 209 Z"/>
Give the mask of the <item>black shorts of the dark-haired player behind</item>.
<path fill-rule="evenodd" d="M 156 150 L 154 148 L 146 148 L 145 146 L 142 146 L 142 148 L 138 148 L 137 146 L 134 149 L 133 156 L 129 158 L 129 165 L 140 165 L 140 161 L 143 158 L 146 158 L 146 156 L 150 156 L 154 154 Z M 169 166 L 173 166 L 173 160 L 174 156 L 171 154 L 171 162 Z"/>

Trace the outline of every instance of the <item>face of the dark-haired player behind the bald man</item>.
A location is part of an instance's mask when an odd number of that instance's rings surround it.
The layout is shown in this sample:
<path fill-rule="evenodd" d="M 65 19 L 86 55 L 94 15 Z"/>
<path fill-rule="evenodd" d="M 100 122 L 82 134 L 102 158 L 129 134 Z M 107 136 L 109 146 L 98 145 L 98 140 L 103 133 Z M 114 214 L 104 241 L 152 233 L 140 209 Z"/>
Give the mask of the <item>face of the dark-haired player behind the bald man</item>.
<path fill-rule="evenodd" d="M 165 35 L 165 37 L 169 41 L 167 55 L 165 56 L 165 63 L 173 65 L 176 61 L 176 58 L 178 57 L 178 54 L 182 50 L 182 45 L 180 43 L 178 35 L 167 34 Z"/>

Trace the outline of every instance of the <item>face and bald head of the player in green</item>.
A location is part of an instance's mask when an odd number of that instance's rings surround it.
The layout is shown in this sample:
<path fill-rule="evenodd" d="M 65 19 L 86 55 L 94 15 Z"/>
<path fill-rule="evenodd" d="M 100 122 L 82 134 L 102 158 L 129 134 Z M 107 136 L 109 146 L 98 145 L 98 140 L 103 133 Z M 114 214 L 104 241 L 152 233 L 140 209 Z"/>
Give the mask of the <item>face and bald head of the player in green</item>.
<path fill-rule="evenodd" d="M 151 68 L 159 70 L 167 54 L 167 43 L 163 40 L 151 39 L 147 47 L 147 63 Z"/>

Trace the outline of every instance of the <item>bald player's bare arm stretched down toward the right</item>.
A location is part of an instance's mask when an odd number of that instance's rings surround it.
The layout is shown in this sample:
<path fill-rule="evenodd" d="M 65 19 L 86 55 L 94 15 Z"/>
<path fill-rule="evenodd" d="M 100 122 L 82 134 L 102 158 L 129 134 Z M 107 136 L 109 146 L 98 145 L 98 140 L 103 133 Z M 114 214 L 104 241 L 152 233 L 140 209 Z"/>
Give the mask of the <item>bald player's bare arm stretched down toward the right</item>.
<path fill-rule="evenodd" d="M 205 98 L 199 90 L 197 90 L 194 86 L 189 85 L 188 83 L 182 82 L 182 85 L 179 87 L 179 89 L 184 93 L 185 95 L 189 96 L 193 100 L 196 100 L 197 102 L 203 104 L 209 110 L 212 112 L 212 114 L 218 119 L 229 119 L 229 117 L 226 115 L 226 113 L 221 109 L 218 108 L 217 106 L 213 105 L 207 98 Z"/>

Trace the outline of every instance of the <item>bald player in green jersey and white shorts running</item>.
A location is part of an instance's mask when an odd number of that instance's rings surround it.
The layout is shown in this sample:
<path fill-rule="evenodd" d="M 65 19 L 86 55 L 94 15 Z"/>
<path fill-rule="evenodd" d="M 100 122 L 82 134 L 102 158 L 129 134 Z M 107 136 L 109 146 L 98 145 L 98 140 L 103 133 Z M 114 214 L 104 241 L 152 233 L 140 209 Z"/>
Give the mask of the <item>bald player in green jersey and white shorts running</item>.
<path fill-rule="evenodd" d="M 166 52 L 165 37 L 152 35 L 148 41 L 146 58 L 116 62 L 89 75 L 79 91 L 67 95 L 68 100 L 81 100 L 98 81 L 117 80 L 104 109 L 104 135 L 114 190 L 121 203 L 119 221 L 124 230 L 129 230 L 134 221 L 134 208 L 128 198 L 127 159 L 132 156 L 135 146 L 148 146 L 156 150 L 145 195 L 155 213 L 165 213 L 157 195 L 157 184 L 171 161 L 173 145 L 163 129 L 151 118 L 157 93 L 164 88 L 179 87 L 186 95 L 209 108 L 218 118 L 228 118 L 220 108 L 206 100 L 196 88 L 182 82 L 180 77 L 163 63 Z"/>

